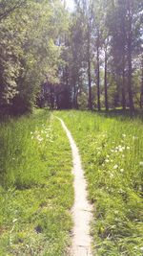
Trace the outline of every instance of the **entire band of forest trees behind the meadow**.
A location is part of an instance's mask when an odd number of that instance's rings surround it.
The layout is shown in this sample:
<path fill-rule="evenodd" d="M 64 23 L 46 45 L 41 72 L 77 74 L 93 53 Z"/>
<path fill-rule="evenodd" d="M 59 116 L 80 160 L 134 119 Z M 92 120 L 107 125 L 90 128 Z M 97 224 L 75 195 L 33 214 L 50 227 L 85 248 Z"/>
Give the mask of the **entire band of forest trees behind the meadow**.
<path fill-rule="evenodd" d="M 0 112 L 143 106 L 141 0 L 0 0 Z"/>

